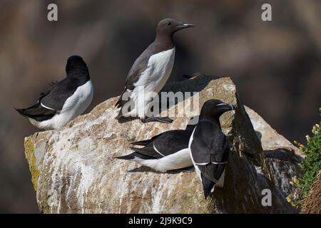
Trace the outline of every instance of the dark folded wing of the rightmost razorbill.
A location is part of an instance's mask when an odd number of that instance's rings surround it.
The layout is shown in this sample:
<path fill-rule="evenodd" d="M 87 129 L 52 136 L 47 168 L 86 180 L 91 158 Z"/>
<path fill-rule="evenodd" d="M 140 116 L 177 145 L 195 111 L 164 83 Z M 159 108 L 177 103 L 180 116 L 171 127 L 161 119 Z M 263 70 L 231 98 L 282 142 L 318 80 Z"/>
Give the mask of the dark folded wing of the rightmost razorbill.
<path fill-rule="evenodd" d="M 226 136 L 215 125 L 200 121 L 190 145 L 193 160 L 202 175 L 217 182 L 228 162 L 229 145 Z"/>

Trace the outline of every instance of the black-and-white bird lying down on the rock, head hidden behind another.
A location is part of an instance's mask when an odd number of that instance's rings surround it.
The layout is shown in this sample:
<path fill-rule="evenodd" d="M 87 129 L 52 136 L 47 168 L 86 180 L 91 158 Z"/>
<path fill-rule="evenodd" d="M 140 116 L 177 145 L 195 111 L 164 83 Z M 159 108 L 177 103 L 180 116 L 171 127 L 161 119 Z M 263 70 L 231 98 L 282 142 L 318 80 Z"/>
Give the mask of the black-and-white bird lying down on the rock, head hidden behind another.
<path fill-rule="evenodd" d="M 187 125 L 185 130 L 168 130 L 150 140 L 133 142 L 144 147 L 132 147 L 135 152 L 117 158 L 133 160 L 158 172 L 193 170 L 188 142 L 194 128 L 195 125 Z"/>

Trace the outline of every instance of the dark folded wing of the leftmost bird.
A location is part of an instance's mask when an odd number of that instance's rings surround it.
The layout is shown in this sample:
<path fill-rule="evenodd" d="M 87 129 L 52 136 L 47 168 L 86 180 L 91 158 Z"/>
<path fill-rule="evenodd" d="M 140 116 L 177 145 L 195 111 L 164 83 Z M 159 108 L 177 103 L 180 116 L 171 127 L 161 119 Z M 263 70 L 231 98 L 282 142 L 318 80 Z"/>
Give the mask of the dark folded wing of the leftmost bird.
<path fill-rule="evenodd" d="M 83 81 L 79 81 L 77 78 L 64 78 L 41 98 L 41 105 L 52 110 L 61 110 L 65 101 L 82 85 Z"/>

